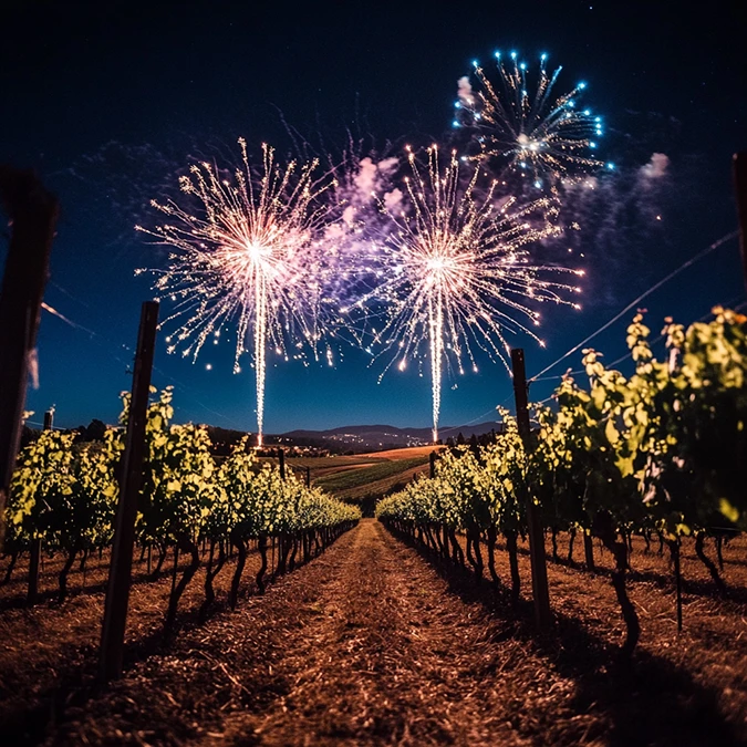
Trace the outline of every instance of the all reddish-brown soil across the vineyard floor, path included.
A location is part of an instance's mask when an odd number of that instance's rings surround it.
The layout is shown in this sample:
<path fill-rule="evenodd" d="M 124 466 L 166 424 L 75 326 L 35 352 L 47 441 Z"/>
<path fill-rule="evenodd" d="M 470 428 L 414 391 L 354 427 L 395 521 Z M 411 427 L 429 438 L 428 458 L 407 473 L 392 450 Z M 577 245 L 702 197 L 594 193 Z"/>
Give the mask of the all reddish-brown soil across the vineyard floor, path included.
<path fill-rule="evenodd" d="M 101 688 L 101 592 L 27 610 L 6 589 L 0 734 L 46 745 L 747 744 L 746 546 L 725 551 L 729 600 L 685 548 L 682 634 L 666 558 L 636 547 L 643 635 L 630 662 L 616 656 L 609 553 L 598 552 L 598 574 L 549 563 L 556 622 L 538 636 L 526 551 L 516 609 L 502 588 L 375 520 L 203 624 L 196 579 L 169 645 L 158 631 L 170 579 L 138 582 L 125 676 Z M 506 553 L 497 560 L 508 579 Z M 224 570 L 220 598 L 229 581 Z"/>

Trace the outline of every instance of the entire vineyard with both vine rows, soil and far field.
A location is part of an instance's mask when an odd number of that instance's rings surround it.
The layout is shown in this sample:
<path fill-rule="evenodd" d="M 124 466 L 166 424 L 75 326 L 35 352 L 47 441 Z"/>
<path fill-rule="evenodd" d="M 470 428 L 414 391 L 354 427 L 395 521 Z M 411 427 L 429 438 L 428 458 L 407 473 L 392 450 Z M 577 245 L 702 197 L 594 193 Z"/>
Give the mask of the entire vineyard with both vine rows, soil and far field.
<path fill-rule="evenodd" d="M 378 502 L 378 521 L 322 488 L 402 478 L 427 452 L 330 458 L 307 487 L 246 440 L 214 457 L 204 428 L 172 423 L 172 390 L 153 392 L 125 674 L 110 686 L 96 653 L 123 433 L 41 432 L 7 509 L 4 733 L 743 744 L 747 320 L 667 322 L 658 356 L 650 336 L 639 314 L 630 377 L 584 351 L 588 384 L 567 374 L 553 404 L 532 407 L 528 442 L 504 412 L 495 443 L 439 450 L 430 477 Z M 540 636 L 528 501 L 553 614 Z"/>

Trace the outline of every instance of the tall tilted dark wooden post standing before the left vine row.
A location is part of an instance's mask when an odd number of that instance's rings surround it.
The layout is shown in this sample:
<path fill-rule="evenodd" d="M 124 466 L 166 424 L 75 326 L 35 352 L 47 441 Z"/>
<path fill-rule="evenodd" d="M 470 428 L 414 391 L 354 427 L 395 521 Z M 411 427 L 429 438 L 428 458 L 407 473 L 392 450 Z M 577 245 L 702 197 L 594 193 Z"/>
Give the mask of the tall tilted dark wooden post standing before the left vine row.
<path fill-rule="evenodd" d="M 151 392 L 151 372 L 158 325 L 158 302 L 146 301 L 141 312 L 137 353 L 133 372 L 133 391 L 127 415 L 125 450 L 120 473 L 120 501 L 114 526 L 114 543 L 108 569 L 108 588 L 101 632 L 100 674 L 104 679 L 122 676 L 125 625 L 129 604 L 135 517 L 143 484 L 145 422 Z"/>

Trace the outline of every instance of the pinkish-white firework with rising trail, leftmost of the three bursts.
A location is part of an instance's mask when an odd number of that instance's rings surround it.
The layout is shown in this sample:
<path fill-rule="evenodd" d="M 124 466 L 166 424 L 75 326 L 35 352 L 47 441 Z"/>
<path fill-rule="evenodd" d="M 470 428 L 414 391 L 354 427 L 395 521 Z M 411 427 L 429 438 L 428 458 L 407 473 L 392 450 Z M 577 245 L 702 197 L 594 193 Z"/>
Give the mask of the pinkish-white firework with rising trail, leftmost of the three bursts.
<path fill-rule="evenodd" d="M 288 360 L 303 343 L 315 347 L 320 333 L 320 273 L 326 266 L 320 237 L 329 201 L 320 199 L 333 181 L 314 178 L 318 162 L 284 168 L 263 145 L 259 173 L 250 168 L 239 139 L 242 168 L 232 178 L 203 163 L 179 180 L 195 198 L 196 215 L 174 201 L 152 205 L 168 221 L 154 229 L 136 227 L 173 248 L 169 267 L 154 270 L 156 290 L 175 302 L 164 324 L 176 322 L 168 351 L 181 347 L 196 360 L 208 340 L 226 325 L 237 332 L 235 372 L 251 338 L 257 377 L 258 444 L 262 443 L 267 349 Z M 141 270 L 142 271 L 142 270 Z"/>

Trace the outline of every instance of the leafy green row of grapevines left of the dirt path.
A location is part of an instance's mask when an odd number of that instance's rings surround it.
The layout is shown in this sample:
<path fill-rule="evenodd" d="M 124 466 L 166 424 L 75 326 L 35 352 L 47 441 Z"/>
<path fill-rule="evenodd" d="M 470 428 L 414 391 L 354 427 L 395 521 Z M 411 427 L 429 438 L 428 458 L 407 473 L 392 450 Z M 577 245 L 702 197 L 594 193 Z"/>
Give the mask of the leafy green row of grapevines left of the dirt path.
<path fill-rule="evenodd" d="M 227 553 L 236 552 L 229 603 L 236 608 L 248 543 L 255 541 L 261 557 L 257 585 L 264 591 L 268 548 L 277 566 L 272 574 L 308 562 L 312 552 L 329 546 L 352 527 L 360 511 L 307 488 L 292 474 L 269 464 L 259 468 L 245 438 L 220 464 L 210 454 L 206 428 L 173 425 L 172 390 L 160 392 L 147 411 L 144 485 L 138 505 L 136 533 L 148 567 L 155 549 L 152 578 L 174 553 L 175 582 L 165 619 L 170 632 L 179 599 L 200 564 L 200 547 L 207 548 L 206 614 L 215 601 L 216 575 Z M 129 396 L 123 395 L 122 422 L 126 424 Z M 84 568 L 92 553 L 108 548 L 114 536 L 118 494 L 116 470 L 123 449 L 122 432 L 110 428 L 103 442 L 75 444 L 72 434 L 44 430 L 19 455 L 7 508 L 6 553 L 11 579 L 19 554 L 43 547 L 59 552 L 64 563 L 59 573 L 58 601 L 68 593 L 68 577 L 76 557 Z M 269 544 L 268 544 L 269 543 Z M 37 550 L 38 552 L 39 550 Z M 188 563 L 178 582 L 179 553 Z"/>

